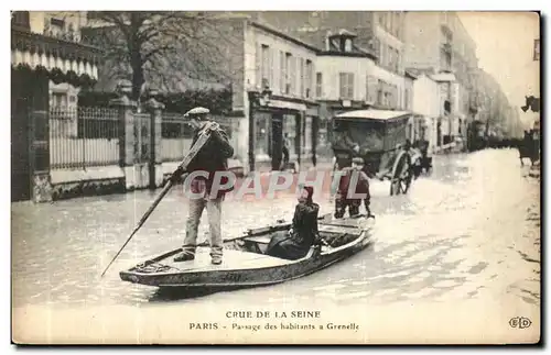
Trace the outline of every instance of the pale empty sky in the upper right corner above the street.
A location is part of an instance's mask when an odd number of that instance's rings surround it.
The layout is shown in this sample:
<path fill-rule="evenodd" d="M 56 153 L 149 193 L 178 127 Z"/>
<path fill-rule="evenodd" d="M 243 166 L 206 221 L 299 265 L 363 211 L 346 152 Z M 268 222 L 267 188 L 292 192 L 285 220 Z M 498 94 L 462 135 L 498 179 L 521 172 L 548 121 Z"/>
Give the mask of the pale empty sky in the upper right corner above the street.
<path fill-rule="evenodd" d="M 525 96 L 540 97 L 540 62 L 533 60 L 533 41 L 540 22 L 531 12 L 461 12 L 460 19 L 477 46 L 478 65 L 491 74 L 516 107 Z M 532 120 L 520 111 L 522 121 Z"/>

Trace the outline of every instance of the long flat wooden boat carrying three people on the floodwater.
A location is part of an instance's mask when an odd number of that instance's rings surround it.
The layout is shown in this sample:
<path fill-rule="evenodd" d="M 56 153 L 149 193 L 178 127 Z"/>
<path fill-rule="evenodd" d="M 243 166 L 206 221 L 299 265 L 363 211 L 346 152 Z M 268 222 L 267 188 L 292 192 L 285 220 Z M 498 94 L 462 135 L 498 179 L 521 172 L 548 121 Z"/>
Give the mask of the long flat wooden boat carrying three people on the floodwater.
<path fill-rule="evenodd" d="M 288 231 L 291 223 L 249 230 L 225 241 L 220 265 L 210 263 L 209 247 L 199 245 L 195 259 L 174 263 L 175 249 L 120 273 L 125 281 L 160 288 L 216 288 L 266 286 L 295 279 L 349 257 L 371 241 L 374 220 L 320 218 L 322 246 L 313 246 L 306 256 L 288 260 L 263 254 L 273 233 Z"/>

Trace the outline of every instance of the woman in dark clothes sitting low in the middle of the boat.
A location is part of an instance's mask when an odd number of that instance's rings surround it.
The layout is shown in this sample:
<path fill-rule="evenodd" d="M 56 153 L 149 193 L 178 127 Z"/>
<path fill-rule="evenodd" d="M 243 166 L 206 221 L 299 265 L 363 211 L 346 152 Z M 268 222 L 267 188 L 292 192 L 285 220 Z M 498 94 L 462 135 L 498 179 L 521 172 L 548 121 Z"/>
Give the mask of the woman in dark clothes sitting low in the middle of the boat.
<path fill-rule="evenodd" d="M 276 233 L 264 254 L 284 259 L 304 257 L 310 247 L 317 243 L 317 213 L 320 206 L 312 200 L 314 189 L 303 187 L 299 204 L 294 209 L 291 230 Z"/>

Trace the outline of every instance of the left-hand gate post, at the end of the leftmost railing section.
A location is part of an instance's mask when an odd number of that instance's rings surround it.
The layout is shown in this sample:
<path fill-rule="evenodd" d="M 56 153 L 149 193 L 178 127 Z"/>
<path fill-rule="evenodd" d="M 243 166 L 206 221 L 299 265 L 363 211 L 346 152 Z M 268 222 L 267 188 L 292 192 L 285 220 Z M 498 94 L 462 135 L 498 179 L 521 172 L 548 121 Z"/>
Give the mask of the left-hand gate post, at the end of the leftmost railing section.
<path fill-rule="evenodd" d="M 110 104 L 119 109 L 119 166 L 125 173 L 125 187 L 133 190 L 134 182 L 134 118 L 133 109 L 136 102 L 128 98 L 131 88 L 122 87 L 121 96 L 110 101 Z"/>

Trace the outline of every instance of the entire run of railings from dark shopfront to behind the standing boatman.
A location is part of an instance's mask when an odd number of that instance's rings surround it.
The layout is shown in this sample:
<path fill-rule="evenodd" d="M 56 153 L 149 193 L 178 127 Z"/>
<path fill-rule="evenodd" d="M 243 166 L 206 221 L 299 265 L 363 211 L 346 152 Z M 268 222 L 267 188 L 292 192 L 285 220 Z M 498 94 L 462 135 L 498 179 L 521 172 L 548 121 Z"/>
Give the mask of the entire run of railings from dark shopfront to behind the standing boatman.
<path fill-rule="evenodd" d="M 119 136 L 122 132 L 119 112 L 112 108 L 51 108 L 50 162 L 52 169 L 84 169 L 119 164 Z M 136 114 L 134 159 L 144 162 L 150 154 L 148 114 Z M 237 146 L 237 122 L 214 117 L 226 131 L 230 144 Z M 163 112 L 161 123 L 161 157 L 179 162 L 190 151 L 193 129 L 181 113 Z"/>

